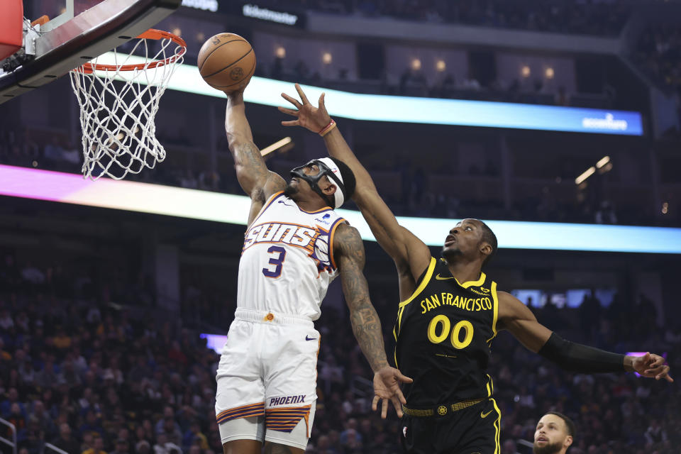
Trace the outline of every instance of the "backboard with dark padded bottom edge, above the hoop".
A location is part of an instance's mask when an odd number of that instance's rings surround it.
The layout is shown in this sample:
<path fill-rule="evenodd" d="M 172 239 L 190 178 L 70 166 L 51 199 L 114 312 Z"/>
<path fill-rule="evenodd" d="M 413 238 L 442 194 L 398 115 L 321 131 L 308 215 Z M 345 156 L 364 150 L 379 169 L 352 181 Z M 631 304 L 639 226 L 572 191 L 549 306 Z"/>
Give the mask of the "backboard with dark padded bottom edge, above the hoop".
<path fill-rule="evenodd" d="M 35 40 L 35 59 L 0 72 L 0 104 L 135 38 L 182 0 L 104 0 Z M 20 22 L 21 26 L 21 22 Z"/>

